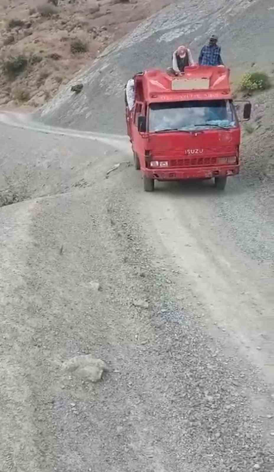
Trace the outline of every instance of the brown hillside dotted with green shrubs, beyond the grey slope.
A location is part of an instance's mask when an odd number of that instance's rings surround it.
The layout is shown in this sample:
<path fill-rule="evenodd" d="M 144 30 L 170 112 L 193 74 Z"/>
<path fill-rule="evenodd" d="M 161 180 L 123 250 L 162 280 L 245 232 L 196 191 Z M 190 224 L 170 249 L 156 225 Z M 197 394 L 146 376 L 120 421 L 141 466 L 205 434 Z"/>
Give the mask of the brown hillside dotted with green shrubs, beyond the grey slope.
<path fill-rule="evenodd" d="M 0 105 L 43 105 L 169 0 L 3 0 Z"/>

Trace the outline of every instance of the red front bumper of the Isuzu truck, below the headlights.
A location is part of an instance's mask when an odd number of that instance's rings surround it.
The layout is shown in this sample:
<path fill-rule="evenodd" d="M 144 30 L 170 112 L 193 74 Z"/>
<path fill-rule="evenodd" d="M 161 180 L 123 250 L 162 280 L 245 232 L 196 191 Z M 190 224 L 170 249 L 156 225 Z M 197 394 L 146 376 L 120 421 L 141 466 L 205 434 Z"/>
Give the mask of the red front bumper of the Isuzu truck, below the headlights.
<path fill-rule="evenodd" d="M 156 180 L 188 180 L 188 179 L 207 179 L 212 177 L 228 177 L 239 174 L 240 166 L 222 166 L 222 167 L 192 167 L 175 169 L 142 169 L 147 178 Z"/>

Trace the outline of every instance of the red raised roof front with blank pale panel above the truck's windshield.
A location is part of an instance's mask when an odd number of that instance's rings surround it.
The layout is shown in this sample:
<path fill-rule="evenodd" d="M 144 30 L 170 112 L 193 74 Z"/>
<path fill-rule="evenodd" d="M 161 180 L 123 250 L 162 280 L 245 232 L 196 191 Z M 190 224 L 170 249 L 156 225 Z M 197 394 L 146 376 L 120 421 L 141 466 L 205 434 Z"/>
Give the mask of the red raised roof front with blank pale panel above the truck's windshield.
<path fill-rule="evenodd" d="M 179 76 L 165 70 L 149 69 L 135 76 L 136 99 L 148 103 L 190 100 L 231 99 L 230 69 L 189 66 Z"/>

